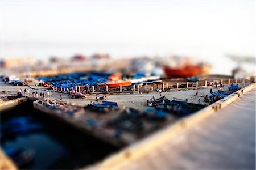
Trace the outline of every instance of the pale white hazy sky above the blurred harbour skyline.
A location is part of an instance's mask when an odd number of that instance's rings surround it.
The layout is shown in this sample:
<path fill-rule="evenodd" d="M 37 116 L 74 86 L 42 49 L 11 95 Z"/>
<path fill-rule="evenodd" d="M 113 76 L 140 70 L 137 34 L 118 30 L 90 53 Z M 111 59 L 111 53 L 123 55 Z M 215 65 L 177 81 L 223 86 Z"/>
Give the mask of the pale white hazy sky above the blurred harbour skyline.
<path fill-rule="evenodd" d="M 254 56 L 255 2 L 2 1 L 2 57 Z"/>

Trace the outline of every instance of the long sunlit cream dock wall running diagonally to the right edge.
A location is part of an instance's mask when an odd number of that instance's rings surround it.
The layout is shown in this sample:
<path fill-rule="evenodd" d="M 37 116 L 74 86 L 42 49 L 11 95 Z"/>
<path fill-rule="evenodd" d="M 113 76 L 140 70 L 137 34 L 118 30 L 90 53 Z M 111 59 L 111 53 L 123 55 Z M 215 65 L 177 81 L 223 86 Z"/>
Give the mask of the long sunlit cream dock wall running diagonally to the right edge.
<path fill-rule="evenodd" d="M 125 167 L 125 165 L 132 163 L 134 160 L 142 158 L 148 152 L 151 152 L 155 148 L 164 145 L 164 143 L 170 141 L 170 139 L 176 137 L 178 134 L 182 133 L 184 130 L 190 128 L 191 126 L 196 125 L 198 122 L 203 121 L 213 113 L 218 113 L 216 112 L 218 109 L 221 109 L 226 105 L 236 101 L 241 95 L 254 89 L 255 87 L 255 83 L 250 84 L 249 86 L 237 91 L 236 94 L 229 95 L 225 97 L 225 99 L 221 99 L 216 103 L 201 109 L 195 114 L 177 121 L 176 124 L 167 126 L 155 134 L 142 139 L 142 141 L 139 141 L 134 145 L 123 149 L 117 154 L 110 156 L 102 162 L 91 165 L 90 167 L 86 167 L 85 169 L 122 169 Z"/>

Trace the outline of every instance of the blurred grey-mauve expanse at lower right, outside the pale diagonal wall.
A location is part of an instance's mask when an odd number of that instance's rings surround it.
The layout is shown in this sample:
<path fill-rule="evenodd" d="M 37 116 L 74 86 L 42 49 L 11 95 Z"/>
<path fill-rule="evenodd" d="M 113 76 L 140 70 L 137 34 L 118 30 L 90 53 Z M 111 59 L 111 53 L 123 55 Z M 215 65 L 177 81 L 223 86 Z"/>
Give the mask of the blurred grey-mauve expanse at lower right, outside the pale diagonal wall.
<path fill-rule="evenodd" d="M 255 169 L 255 92 L 122 169 Z"/>

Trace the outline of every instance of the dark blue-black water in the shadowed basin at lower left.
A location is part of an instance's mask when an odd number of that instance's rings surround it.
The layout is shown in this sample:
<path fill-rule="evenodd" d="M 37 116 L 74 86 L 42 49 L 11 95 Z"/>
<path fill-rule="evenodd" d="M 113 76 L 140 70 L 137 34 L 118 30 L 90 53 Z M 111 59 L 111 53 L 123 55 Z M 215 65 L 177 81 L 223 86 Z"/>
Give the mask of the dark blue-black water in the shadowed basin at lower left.
<path fill-rule="evenodd" d="M 35 158 L 22 169 L 75 169 L 105 158 L 118 148 L 99 141 L 56 118 L 32 108 L 32 103 L 1 113 L 1 125 L 14 118 L 32 118 L 41 130 L 18 134 L 1 141 L 1 147 L 33 149 Z M 1 134 L 4 133 L 1 128 Z"/>

